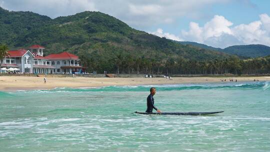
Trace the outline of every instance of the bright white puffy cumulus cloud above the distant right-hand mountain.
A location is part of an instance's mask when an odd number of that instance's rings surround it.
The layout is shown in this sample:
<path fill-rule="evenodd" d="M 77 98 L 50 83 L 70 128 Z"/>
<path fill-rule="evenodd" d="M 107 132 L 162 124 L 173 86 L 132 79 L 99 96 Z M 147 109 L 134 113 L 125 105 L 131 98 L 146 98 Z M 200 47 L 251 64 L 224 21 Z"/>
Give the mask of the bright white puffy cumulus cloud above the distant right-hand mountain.
<path fill-rule="evenodd" d="M 232 27 L 232 22 L 225 17 L 215 15 L 202 27 L 190 22 L 189 30 L 182 30 L 181 37 L 221 48 L 235 44 L 270 45 L 270 17 L 265 13 L 259 17 L 260 20 Z"/>

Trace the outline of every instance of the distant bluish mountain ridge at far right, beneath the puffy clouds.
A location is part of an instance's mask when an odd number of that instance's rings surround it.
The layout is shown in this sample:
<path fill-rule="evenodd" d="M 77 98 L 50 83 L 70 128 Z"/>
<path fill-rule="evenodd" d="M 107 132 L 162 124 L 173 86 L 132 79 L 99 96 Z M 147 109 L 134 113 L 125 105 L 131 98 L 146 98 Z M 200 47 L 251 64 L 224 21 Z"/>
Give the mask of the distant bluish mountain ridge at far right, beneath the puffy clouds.
<path fill-rule="evenodd" d="M 189 44 L 204 49 L 217 50 L 228 54 L 234 54 L 243 57 L 263 57 L 270 55 L 270 47 L 261 44 L 233 45 L 222 49 L 192 41 L 178 41 L 178 42 L 185 45 Z"/>

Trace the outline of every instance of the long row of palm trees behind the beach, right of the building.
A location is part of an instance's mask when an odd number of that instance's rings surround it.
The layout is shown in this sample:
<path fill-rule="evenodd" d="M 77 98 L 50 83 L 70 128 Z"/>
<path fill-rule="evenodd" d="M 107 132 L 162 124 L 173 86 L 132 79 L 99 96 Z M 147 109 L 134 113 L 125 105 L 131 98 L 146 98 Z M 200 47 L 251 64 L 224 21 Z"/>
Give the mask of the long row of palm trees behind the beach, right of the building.
<path fill-rule="evenodd" d="M 81 64 L 87 71 L 104 70 L 110 73 L 127 74 L 267 74 L 270 73 L 270 55 L 240 59 L 230 56 L 225 59 L 190 60 L 181 56 L 144 57 L 117 54 L 110 59 L 102 56 L 80 56 Z"/>

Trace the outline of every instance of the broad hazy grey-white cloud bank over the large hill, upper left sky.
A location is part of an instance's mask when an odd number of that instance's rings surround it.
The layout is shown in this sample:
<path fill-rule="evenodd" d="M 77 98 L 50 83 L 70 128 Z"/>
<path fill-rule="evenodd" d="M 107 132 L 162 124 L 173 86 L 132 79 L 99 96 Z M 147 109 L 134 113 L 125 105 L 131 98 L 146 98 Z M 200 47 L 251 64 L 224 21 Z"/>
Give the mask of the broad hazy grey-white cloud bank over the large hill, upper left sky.
<path fill-rule="evenodd" d="M 8 10 L 33 11 L 52 18 L 85 10 L 97 10 L 142 29 L 172 23 L 179 17 L 199 18 L 201 11 L 230 0 L 0 0 Z"/>

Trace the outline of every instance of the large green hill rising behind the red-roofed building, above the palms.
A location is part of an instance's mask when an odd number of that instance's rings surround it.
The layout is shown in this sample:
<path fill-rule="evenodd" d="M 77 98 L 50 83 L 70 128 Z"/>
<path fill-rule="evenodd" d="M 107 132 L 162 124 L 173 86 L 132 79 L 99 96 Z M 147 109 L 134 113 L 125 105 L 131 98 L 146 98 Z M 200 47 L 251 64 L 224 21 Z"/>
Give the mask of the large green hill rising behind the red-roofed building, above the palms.
<path fill-rule="evenodd" d="M 0 43 L 10 49 L 45 46 L 45 54 L 69 51 L 89 70 L 113 71 L 130 66 L 145 72 L 153 62 L 224 59 L 218 51 L 183 45 L 129 27 L 119 19 L 96 11 L 84 11 L 51 19 L 33 12 L 0 8 Z M 139 63 L 138 63 L 139 62 Z M 146 67 L 145 67 L 146 65 Z"/>

